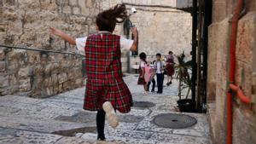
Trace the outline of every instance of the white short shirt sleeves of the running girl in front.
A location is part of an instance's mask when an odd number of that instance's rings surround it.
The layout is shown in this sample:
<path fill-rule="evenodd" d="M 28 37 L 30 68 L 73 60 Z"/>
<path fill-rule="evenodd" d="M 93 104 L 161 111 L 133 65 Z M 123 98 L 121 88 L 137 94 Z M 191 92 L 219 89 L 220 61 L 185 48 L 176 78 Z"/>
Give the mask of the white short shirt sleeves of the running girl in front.
<path fill-rule="evenodd" d="M 86 40 L 87 40 L 87 37 L 76 38 L 76 45 L 77 45 L 77 49 L 79 51 L 84 52 L 84 47 L 85 47 L 85 44 L 86 44 Z M 130 50 L 132 44 L 133 44 L 133 40 L 126 39 L 124 37 L 120 37 L 121 50 Z"/>

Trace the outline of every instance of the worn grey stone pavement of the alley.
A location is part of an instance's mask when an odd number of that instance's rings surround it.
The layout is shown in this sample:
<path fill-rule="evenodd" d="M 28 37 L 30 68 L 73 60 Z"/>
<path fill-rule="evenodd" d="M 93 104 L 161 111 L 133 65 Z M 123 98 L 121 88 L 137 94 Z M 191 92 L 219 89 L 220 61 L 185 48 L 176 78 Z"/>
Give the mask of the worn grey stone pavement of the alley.
<path fill-rule="evenodd" d="M 160 113 L 175 112 L 177 83 L 164 88 L 162 95 L 143 94 L 137 76 L 125 78 L 134 101 L 152 102 L 153 107 L 133 107 L 119 114 L 119 127 L 106 125 L 108 142 L 96 141 L 96 112 L 82 109 L 84 88 L 74 89 L 46 99 L 6 95 L 0 97 L 1 144 L 76 144 L 76 143 L 142 143 L 142 144 L 210 144 L 207 116 L 185 113 L 197 123 L 186 129 L 160 128 L 152 123 Z"/>

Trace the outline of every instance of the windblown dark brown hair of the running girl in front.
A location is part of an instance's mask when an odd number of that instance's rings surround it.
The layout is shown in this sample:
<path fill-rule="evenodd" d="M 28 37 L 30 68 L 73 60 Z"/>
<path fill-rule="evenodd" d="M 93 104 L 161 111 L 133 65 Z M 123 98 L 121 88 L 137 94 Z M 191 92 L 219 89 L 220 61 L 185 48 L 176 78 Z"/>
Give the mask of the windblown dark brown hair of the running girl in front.
<path fill-rule="evenodd" d="M 104 10 L 96 16 L 99 31 L 113 32 L 116 23 L 122 23 L 127 18 L 125 4 L 117 4 L 112 9 Z"/>

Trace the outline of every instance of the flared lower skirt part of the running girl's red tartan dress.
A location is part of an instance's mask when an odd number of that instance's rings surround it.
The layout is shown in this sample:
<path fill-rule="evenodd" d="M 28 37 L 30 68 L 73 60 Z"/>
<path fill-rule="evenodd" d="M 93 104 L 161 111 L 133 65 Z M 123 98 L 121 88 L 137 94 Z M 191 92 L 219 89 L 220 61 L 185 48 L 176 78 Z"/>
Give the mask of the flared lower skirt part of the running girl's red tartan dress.
<path fill-rule="evenodd" d="M 87 79 L 84 95 L 84 109 L 102 110 L 102 104 L 110 101 L 113 107 L 122 113 L 131 111 L 131 92 L 123 78 Z"/>

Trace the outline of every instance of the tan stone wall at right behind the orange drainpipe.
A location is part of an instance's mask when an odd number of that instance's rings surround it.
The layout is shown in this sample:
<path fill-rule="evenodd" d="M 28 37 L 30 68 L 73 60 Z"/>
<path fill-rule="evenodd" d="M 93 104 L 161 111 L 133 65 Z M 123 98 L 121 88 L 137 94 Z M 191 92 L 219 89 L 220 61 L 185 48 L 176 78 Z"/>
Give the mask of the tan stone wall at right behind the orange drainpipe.
<path fill-rule="evenodd" d="M 214 0 L 209 26 L 209 57 L 207 96 L 209 101 L 212 138 L 215 143 L 225 143 L 226 137 L 226 94 L 229 84 L 230 15 L 237 1 Z M 256 47 L 256 2 L 245 1 L 247 14 L 238 23 L 236 39 L 236 84 L 255 104 L 256 79 L 253 74 L 253 49 Z M 245 105 L 234 95 L 233 143 L 256 143 L 256 107 Z"/>

